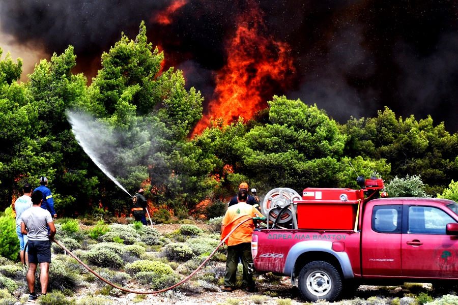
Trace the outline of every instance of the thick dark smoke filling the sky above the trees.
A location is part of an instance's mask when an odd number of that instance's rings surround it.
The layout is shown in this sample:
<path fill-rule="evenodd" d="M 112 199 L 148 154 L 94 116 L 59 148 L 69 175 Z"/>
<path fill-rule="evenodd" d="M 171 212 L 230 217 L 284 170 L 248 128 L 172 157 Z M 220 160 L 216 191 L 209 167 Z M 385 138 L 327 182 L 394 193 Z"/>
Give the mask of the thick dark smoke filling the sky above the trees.
<path fill-rule="evenodd" d="M 17 43 L 42 44 L 50 54 L 73 45 L 76 72 L 91 78 L 100 54 L 121 32 L 134 38 L 145 20 L 150 41 L 165 52 L 166 66 L 183 69 L 187 85 L 201 90 L 208 102 L 237 16 L 252 7 L 249 1 L 184 1 L 164 24 L 157 16 L 170 0 L 3 0 L 0 22 Z M 403 117 L 431 114 L 436 124 L 445 121 L 447 130 L 458 130 L 458 1 L 263 0 L 258 5 L 268 34 L 290 46 L 296 68 L 288 86 L 270 84 L 266 100 L 272 94 L 300 98 L 341 123 L 351 115 L 375 116 L 386 105 Z"/>

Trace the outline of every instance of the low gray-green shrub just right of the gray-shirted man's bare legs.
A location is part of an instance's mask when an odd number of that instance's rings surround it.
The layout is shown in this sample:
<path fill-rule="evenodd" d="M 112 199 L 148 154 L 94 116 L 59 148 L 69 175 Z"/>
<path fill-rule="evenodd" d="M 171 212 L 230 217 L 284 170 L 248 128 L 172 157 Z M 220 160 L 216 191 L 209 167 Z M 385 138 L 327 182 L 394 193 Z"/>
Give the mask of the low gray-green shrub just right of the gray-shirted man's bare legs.
<path fill-rule="evenodd" d="M 40 283 L 38 277 L 35 278 L 36 284 Z M 78 277 L 76 273 L 65 268 L 65 265 L 60 260 L 53 260 L 49 265 L 48 291 L 65 289 L 76 290 L 78 285 Z"/>

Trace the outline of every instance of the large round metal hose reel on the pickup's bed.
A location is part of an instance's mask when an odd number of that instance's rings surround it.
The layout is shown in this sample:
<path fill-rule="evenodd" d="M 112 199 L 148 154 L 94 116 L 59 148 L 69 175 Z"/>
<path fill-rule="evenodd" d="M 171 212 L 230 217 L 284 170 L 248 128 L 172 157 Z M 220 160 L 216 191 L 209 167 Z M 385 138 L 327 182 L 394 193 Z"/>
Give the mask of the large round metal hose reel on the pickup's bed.
<path fill-rule="evenodd" d="M 267 217 L 267 226 L 272 228 L 287 229 L 291 223 L 296 222 L 296 211 L 291 210 L 294 199 L 302 199 L 299 194 L 289 188 L 276 188 L 266 194 L 261 205 L 263 215 Z M 294 209 L 295 210 L 295 209 Z M 296 222 L 297 227 L 297 222 Z"/>

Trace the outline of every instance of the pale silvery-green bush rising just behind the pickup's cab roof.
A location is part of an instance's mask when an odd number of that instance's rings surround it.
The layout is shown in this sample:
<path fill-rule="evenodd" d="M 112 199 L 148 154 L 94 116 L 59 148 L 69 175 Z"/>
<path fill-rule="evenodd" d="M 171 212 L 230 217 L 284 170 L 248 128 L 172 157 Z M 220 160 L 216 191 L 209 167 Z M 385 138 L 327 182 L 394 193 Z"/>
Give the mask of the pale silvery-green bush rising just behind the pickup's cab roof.
<path fill-rule="evenodd" d="M 420 176 L 394 177 L 385 185 L 389 197 L 431 197 L 424 192 Z"/>

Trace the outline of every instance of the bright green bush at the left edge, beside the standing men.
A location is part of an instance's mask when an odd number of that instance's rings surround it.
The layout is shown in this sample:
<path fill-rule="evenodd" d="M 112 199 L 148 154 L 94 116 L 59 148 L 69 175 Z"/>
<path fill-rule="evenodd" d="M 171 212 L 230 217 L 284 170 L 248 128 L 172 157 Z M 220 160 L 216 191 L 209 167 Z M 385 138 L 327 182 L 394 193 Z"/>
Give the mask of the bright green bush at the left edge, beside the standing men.
<path fill-rule="evenodd" d="M 12 212 L 13 207 L 10 205 L 5 209 L 4 216 L 0 217 L 0 256 L 16 260 L 20 245 L 16 233 L 16 219 Z"/>

